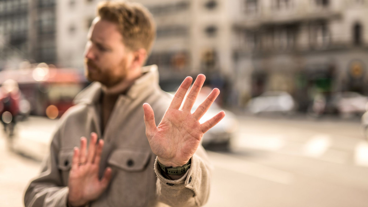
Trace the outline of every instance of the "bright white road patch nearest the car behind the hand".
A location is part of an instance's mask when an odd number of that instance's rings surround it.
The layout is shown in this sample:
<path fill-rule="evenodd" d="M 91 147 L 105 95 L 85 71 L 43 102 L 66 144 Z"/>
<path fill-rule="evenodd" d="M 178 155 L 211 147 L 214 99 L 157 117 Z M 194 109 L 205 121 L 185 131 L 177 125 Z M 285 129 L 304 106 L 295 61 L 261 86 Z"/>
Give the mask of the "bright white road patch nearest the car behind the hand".
<path fill-rule="evenodd" d="M 281 134 L 245 134 L 238 136 L 234 143 L 235 147 L 277 151 L 285 145 L 285 140 Z"/>

